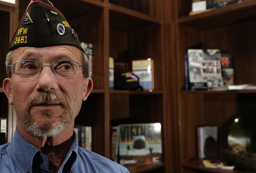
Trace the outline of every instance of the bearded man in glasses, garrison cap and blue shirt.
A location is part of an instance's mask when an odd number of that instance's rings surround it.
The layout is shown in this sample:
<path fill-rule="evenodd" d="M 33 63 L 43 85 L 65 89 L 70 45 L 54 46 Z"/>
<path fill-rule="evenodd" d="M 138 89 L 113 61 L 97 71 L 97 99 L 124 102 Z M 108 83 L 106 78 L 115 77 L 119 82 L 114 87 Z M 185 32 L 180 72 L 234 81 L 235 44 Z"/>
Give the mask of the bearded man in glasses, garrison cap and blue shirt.
<path fill-rule="evenodd" d="M 74 29 L 48 0 L 31 1 L 6 57 L 4 93 L 17 114 L 13 140 L 0 146 L 1 173 L 128 173 L 77 146 L 73 131 L 93 88 Z"/>

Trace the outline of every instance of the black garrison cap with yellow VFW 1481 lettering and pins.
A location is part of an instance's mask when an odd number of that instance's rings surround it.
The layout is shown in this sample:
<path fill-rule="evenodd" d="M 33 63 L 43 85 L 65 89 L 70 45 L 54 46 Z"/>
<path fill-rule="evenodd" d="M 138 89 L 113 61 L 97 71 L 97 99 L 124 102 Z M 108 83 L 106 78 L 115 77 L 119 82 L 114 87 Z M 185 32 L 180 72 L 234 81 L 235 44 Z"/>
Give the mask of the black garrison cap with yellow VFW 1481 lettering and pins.
<path fill-rule="evenodd" d="M 9 51 L 19 47 L 57 45 L 75 46 L 84 52 L 74 29 L 49 0 L 31 0 L 13 34 Z"/>

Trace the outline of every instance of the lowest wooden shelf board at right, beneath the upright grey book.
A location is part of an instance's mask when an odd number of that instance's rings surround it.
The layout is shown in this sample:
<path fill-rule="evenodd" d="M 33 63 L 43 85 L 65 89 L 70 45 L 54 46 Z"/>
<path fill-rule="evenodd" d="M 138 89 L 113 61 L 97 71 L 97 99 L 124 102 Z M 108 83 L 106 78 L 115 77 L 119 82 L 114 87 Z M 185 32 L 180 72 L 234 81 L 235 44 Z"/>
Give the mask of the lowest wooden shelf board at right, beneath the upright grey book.
<path fill-rule="evenodd" d="M 183 167 L 196 170 L 199 172 L 205 172 L 205 173 L 249 173 L 244 172 L 241 170 L 225 170 L 225 169 L 213 169 L 213 168 L 205 168 L 204 164 L 202 163 L 202 160 L 199 159 L 192 159 L 188 161 L 187 163 L 183 164 Z"/>

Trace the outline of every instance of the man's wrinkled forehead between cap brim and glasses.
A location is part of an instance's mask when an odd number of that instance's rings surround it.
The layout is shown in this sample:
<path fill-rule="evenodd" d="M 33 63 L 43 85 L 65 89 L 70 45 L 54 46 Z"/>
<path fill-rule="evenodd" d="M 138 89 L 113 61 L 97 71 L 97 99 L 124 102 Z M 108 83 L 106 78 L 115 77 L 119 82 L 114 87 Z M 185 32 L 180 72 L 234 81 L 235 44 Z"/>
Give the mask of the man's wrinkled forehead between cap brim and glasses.
<path fill-rule="evenodd" d="M 13 50 L 12 63 L 22 60 L 34 60 L 52 63 L 58 60 L 73 60 L 81 63 L 81 51 L 74 46 L 52 46 L 44 48 L 20 47 Z"/>

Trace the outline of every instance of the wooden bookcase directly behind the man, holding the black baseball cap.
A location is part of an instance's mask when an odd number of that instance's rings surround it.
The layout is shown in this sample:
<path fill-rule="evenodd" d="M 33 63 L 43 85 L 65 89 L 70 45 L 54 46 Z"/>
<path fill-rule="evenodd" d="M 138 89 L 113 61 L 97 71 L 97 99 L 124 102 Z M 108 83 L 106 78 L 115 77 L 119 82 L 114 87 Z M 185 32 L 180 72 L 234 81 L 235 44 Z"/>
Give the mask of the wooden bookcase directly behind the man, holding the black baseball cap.
<path fill-rule="evenodd" d="M 75 29 L 81 42 L 93 44 L 93 91 L 83 102 L 77 125 L 92 126 L 93 151 L 110 158 L 111 126 L 124 122 L 162 124 L 163 163 L 158 165 L 128 166 L 131 173 L 167 173 L 175 170 L 171 160 L 176 152 L 176 141 L 171 133 L 171 114 L 177 110 L 171 102 L 175 102 L 175 90 L 170 92 L 171 73 L 169 63 L 175 67 L 174 45 L 170 29 L 169 0 L 149 0 L 148 14 L 110 3 L 109 0 L 50 0 L 63 12 L 70 26 Z M 30 0 L 16 0 L 16 4 L 0 1 L 0 19 L 5 25 L 1 27 L 0 48 L 7 50 L 10 38 L 25 13 Z M 2 39 L 4 38 L 4 39 Z M 4 41 L 3 41 L 4 40 Z M 170 49 L 172 47 L 172 49 Z M 2 51 L 1 51 L 2 52 Z M 5 78 L 5 55 L 1 55 L 1 85 Z M 109 56 L 115 62 L 131 63 L 133 59 L 154 59 L 154 92 L 135 92 L 109 89 Z M 165 70 L 166 69 L 166 70 Z M 174 69 L 174 68 L 173 68 Z M 172 69 L 172 70 L 173 70 Z M 129 66 L 128 70 L 131 70 Z M 1 86 L 0 86 L 1 87 Z M 174 94 L 173 94 L 174 93 Z M 177 95 L 177 94 L 176 94 Z M 8 101 L 0 88 L 1 115 L 10 116 L 8 123 L 9 141 L 12 138 L 16 122 L 13 107 L 8 108 Z M 13 129 L 14 128 L 14 129 Z M 175 137 L 175 135 L 174 135 Z M 177 142 L 175 142 L 177 144 Z"/>

